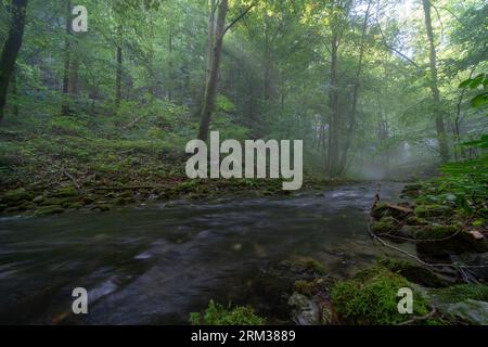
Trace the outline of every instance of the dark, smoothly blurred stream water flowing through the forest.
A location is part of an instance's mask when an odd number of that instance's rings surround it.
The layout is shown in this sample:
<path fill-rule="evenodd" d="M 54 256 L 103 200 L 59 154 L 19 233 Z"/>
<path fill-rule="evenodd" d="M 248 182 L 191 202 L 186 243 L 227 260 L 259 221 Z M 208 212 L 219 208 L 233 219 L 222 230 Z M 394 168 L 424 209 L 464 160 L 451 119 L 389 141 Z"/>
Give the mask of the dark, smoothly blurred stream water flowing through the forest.
<path fill-rule="evenodd" d="M 348 275 L 385 252 L 365 229 L 376 187 L 1 218 L 0 323 L 184 323 L 209 298 L 246 304 L 254 278 L 299 256 Z M 383 183 L 382 198 L 401 187 Z M 87 316 L 70 313 L 75 287 Z"/>

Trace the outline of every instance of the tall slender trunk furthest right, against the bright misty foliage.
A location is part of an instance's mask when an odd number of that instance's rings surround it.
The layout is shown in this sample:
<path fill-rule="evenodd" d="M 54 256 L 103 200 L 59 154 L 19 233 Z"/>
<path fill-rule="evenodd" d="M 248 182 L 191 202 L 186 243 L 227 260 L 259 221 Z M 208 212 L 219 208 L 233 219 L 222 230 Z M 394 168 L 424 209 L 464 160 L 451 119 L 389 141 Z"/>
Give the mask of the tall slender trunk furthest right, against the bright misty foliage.
<path fill-rule="evenodd" d="M 446 136 L 446 126 L 444 124 L 442 113 L 440 107 L 440 93 L 437 86 L 437 57 L 434 42 L 434 33 L 432 29 L 431 20 L 431 2 L 429 0 L 422 0 L 425 15 L 425 29 L 427 31 L 429 44 L 429 65 L 431 65 L 431 90 L 434 99 L 434 117 L 436 120 L 437 138 L 439 141 L 439 153 L 442 162 L 449 160 L 449 146 Z"/>

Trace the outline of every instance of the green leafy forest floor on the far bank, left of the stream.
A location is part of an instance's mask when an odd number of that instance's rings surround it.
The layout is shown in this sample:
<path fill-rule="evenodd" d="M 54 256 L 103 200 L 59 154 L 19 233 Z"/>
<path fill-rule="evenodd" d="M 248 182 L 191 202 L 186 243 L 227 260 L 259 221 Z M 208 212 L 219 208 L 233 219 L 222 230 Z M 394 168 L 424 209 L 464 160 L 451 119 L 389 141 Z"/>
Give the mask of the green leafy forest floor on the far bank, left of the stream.
<path fill-rule="evenodd" d="M 2 128 L 0 213 L 43 216 L 160 200 L 290 194 L 281 179 L 188 179 L 179 138 L 89 134 L 86 127 L 66 121 Z M 304 180 L 304 189 L 345 182 L 311 175 Z"/>

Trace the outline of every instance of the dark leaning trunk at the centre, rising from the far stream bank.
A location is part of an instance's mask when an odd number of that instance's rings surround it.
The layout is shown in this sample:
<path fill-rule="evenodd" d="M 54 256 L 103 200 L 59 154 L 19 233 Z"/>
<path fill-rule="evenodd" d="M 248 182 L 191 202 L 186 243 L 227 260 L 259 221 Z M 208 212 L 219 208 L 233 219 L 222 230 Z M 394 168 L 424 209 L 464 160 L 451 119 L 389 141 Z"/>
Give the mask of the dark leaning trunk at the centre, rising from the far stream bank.
<path fill-rule="evenodd" d="M 221 0 L 218 8 L 218 17 L 215 31 L 215 44 L 213 44 L 211 66 L 205 87 L 205 99 L 201 113 L 198 139 L 206 141 L 210 126 L 211 112 L 214 110 L 217 85 L 219 77 L 220 56 L 222 53 L 223 35 L 226 29 L 226 16 L 229 8 L 228 0 Z"/>

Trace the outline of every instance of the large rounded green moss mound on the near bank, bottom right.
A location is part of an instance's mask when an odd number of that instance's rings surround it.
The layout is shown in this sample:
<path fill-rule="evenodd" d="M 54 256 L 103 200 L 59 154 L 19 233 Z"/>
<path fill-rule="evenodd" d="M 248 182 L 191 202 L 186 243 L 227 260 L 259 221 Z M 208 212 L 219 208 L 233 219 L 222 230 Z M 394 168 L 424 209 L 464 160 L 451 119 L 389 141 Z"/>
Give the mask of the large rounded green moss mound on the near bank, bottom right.
<path fill-rule="evenodd" d="M 398 312 L 397 294 L 401 287 L 412 285 L 401 275 L 375 266 L 334 285 L 332 305 L 346 323 L 398 324 L 412 318 L 412 314 Z M 414 292 L 413 316 L 425 316 L 428 311 L 427 300 Z"/>

